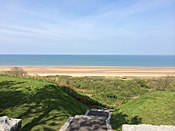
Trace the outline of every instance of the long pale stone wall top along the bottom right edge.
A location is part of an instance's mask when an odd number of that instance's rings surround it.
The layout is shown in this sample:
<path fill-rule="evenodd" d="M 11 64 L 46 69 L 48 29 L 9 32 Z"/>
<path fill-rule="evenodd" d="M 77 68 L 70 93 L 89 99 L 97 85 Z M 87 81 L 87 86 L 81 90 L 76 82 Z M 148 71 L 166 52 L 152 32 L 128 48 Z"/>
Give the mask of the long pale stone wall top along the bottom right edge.
<path fill-rule="evenodd" d="M 122 131 L 175 131 L 175 126 L 153 126 L 149 124 L 122 125 Z"/>

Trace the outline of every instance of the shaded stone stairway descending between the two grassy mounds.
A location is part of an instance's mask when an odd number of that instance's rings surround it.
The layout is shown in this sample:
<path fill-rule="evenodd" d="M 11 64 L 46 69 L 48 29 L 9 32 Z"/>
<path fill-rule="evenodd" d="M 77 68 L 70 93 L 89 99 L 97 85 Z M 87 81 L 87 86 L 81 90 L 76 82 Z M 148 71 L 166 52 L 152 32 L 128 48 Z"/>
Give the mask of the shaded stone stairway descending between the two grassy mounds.
<path fill-rule="evenodd" d="M 88 110 L 85 115 L 70 117 L 60 131 L 112 131 L 109 110 Z"/>

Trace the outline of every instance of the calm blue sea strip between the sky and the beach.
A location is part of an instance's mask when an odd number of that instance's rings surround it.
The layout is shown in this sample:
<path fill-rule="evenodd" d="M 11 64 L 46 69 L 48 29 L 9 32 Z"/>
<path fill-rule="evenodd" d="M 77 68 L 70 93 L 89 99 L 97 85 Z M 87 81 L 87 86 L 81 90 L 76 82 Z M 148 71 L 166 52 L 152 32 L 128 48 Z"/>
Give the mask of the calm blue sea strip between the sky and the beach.
<path fill-rule="evenodd" d="M 175 56 L 0 55 L 2 66 L 153 66 L 175 67 Z"/>

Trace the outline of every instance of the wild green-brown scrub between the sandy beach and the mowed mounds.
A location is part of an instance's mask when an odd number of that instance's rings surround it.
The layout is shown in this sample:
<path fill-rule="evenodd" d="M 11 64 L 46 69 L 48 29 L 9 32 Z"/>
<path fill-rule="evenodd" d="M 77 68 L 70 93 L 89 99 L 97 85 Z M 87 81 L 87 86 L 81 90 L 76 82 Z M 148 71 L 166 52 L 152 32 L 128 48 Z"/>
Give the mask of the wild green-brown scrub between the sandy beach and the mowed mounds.
<path fill-rule="evenodd" d="M 44 79 L 89 96 L 109 108 L 119 108 L 128 100 L 150 92 L 175 91 L 174 77 L 120 80 L 105 77 L 48 76 Z"/>

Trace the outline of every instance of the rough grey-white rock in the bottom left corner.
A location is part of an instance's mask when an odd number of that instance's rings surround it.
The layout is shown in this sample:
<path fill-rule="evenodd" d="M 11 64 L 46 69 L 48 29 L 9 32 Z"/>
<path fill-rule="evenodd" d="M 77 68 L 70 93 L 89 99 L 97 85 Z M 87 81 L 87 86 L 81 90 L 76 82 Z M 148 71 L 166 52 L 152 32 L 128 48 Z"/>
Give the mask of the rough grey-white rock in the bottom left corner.
<path fill-rule="evenodd" d="M 18 131 L 21 128 L 21 119 L 12 119 L 7 116 L 0 117 L 0 131 Z"/>

